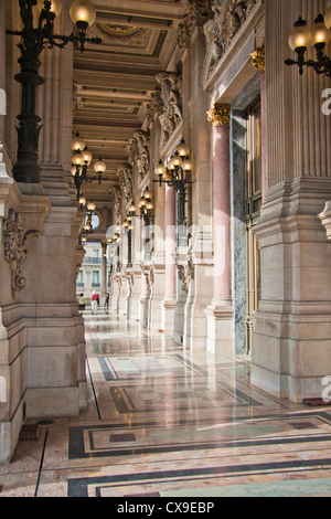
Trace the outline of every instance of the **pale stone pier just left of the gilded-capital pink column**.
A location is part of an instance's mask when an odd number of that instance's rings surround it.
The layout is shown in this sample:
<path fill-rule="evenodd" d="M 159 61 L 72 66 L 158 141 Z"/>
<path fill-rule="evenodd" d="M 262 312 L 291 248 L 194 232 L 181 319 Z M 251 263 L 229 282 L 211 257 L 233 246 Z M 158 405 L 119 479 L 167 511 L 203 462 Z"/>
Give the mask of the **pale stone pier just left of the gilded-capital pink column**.
<path fill-rule="evenodd" d="M 183 61 L 183 76 L 189 73 L 191 83 L 190 100 L 188 103 L 184 98 L 183 104 L 189 105 L 190 127 L 185 131 L 191 136 L 186 141 L 192 149 L 194 170 L 192 189 L 188 195 L 192 210 L 192 240 L 186 263 L 179 265 L 179 275 L 185 278 L 184 286 L 188 289 L 183 346 L 199 350 L 206 349 L 205 310 L 213 299 L 211 131 L 206 119 L 210 100 L 200 80 L 204 56 L 204 34 L 202 28 L 196 27 L 186 56 L 190 65 Z"/>

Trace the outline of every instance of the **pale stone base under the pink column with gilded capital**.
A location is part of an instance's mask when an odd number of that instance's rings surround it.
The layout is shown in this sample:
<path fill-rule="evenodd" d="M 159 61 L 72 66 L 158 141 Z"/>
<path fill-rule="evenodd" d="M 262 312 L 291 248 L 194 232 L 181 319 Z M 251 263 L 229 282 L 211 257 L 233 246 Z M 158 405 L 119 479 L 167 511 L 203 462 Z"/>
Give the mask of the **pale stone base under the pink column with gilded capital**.
<path fill-rule="evenodd" d="M 206 308 L 205 315 L 207 319 L 207 352 L 222 357 L 235 354 L 233 306 L 215 303 Z"/>

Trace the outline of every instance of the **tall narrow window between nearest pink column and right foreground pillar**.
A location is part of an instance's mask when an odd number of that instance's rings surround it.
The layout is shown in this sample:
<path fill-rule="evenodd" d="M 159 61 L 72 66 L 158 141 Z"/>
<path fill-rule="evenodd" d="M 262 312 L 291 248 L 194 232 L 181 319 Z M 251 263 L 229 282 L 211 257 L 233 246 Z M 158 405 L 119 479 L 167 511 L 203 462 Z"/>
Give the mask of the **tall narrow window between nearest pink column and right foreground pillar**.
<path fill-rule="evenodd" d="M 257 310 L 259 300 L 259 254 L 253 229 L 261 206 L 261 117 L 260 103 L 247 118 L 247 178 L 246 178 L 246 226 L 247 226 L 247 314 Z"/>

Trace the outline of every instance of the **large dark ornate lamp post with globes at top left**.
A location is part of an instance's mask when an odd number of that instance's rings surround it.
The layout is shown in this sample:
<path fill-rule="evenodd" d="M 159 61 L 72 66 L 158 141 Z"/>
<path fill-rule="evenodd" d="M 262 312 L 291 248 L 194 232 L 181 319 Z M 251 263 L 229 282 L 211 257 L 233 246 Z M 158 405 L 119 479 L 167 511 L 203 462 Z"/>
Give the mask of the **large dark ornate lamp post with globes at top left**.
<path fill-rule="evenodd" d="M 33 27 L 32 8 L 40 4 L 38 27 Z M 41 118 L 35 114 L 36 87 L 44 83 L 39 75 L 41 66 L 40 54 L 46 46 L 64 49 L 70 42 L 78 43 L 83 52 L 85 43 L 102 43 L 97 38 L 86 38 L 86 32 L 96 18 L 96 11 L 89 0 L 75 0 L 70 10 L 77 33 L 71 35 L 54 34 L 54 20 L 62 9 L 62 0 L 19 0 L 20 14 L 23 22 L 22 31 L 7 31 L 7 34 L 21 36 L 18 46 L 21 51 L 19 64 L 21 72 L 15 75 L 18 83 L 22 85 L 21 114 L 18 116 L 18 160 L 13 167 L 13 177 L 18 182 L 39 183 L 39 135 L 41 131 Z"/>

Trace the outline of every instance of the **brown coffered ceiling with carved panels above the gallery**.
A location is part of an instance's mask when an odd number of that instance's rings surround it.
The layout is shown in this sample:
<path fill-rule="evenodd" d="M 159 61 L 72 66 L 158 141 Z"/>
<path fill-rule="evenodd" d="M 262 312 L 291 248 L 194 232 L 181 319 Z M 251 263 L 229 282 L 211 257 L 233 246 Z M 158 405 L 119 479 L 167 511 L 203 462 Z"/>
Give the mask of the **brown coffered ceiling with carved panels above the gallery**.
<path fill-rule="evenodd" d="M 158 72 L 168 70 L 178 24 L 184 15 L 180 0 L 95 0 L 97 19 L 88 36 L 102 39 L 74 54 L 74 131 L 85 140 L 94 160 L 107 165 L 104 181 L 84 184 L 94 201 L 109 201 L 117 170 L 127 162 L 135 130 L 141 128 L 149 93 Z"/>

